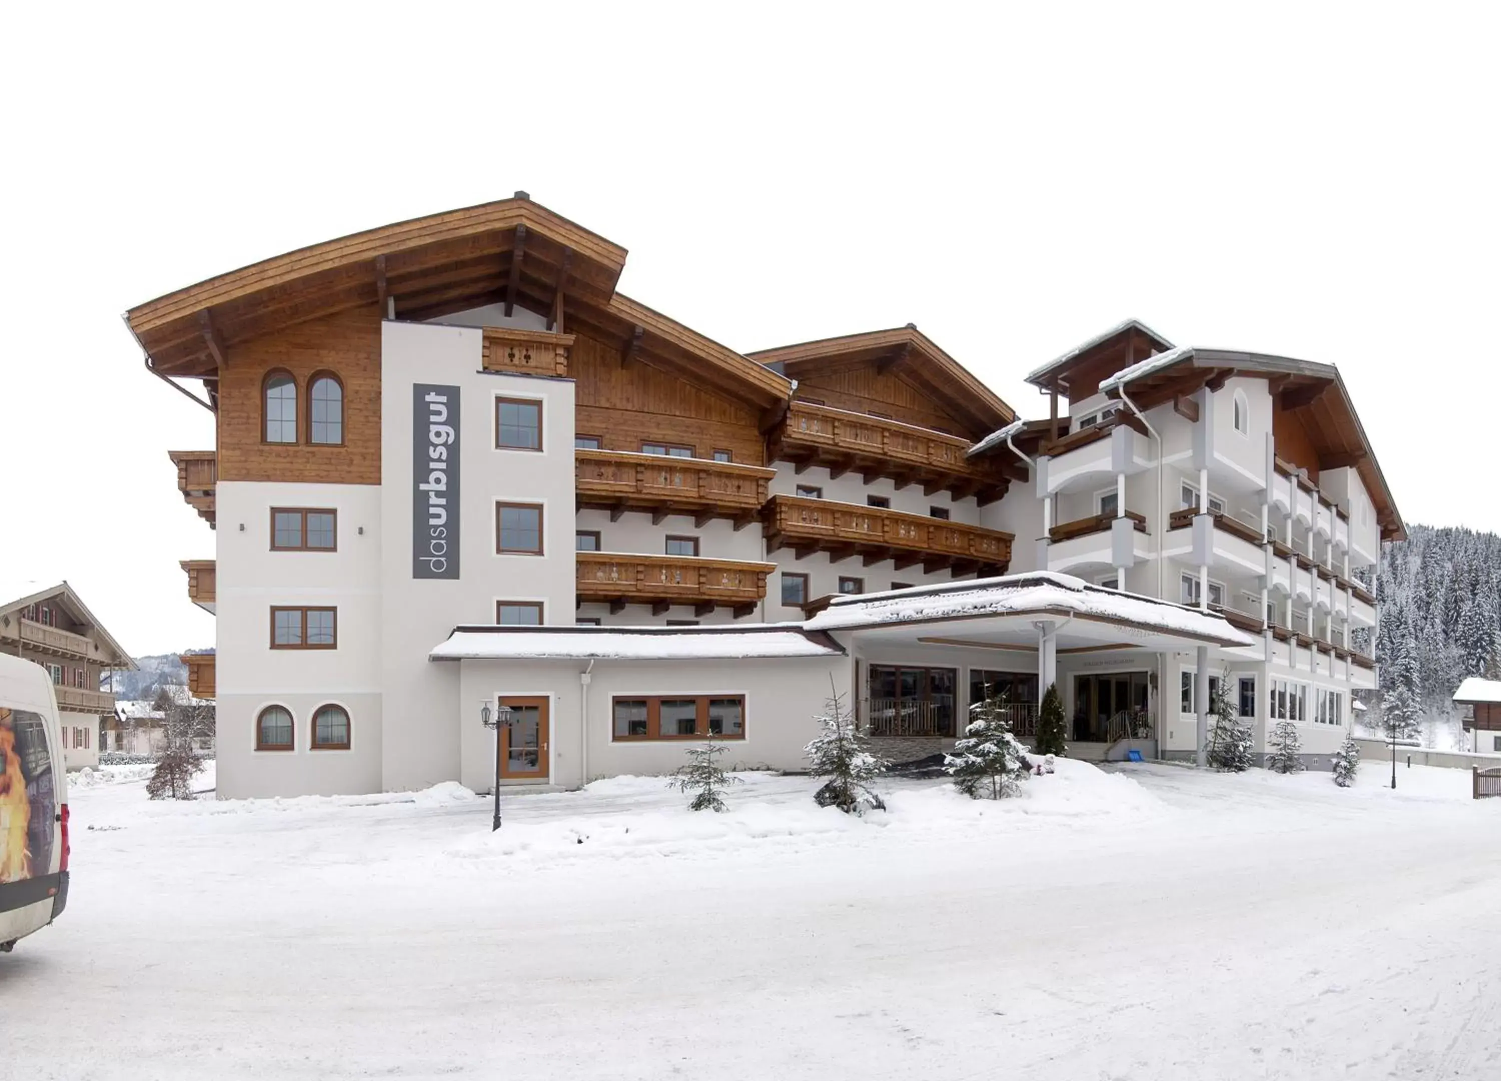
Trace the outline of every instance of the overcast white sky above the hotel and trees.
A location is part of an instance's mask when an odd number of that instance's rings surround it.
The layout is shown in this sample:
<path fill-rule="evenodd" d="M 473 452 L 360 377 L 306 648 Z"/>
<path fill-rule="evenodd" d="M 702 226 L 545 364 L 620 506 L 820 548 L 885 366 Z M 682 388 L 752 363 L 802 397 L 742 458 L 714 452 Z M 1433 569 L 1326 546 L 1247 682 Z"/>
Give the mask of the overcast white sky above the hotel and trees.
<path fill-rule="evenodd" d="M 213 426 L 120 314 L 516 189 L 734 348 L 911 321 L 1022 416 L 1127 315 L 1337 363 L 1405 518 L 1501 528 L 1483 5 L 41 8 L 0 45 L 0 580 L 132 653 L 213 641 L 167 459 Z"/>

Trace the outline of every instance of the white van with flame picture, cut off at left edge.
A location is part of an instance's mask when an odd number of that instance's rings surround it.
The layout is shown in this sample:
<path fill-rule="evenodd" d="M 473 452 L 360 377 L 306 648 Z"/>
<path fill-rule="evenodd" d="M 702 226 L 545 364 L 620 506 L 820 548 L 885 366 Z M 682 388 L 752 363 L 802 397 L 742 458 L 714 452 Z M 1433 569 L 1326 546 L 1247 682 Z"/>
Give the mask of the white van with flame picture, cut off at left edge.
<path fill-rule="evenodd" d="M 68 772 L 47 670 L 0 656 L 0 953 L 68 904 Z"/>

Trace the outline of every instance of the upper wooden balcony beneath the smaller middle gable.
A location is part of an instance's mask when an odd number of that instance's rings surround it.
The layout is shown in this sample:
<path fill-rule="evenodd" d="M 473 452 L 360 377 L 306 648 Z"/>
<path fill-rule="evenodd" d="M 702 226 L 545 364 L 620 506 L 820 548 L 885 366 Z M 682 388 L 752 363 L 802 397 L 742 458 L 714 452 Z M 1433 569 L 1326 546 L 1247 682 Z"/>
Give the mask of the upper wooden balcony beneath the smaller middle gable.
<path fill-rule="evenodd" d="M 796 462 L 802 473 L 823 465 L 832 476 L 860 473 L 869 483 L 890 477 L 896 488 L 922 483 L 923 494 L 949 489 L 980 506 L 1006 494 L 1015 467 L 1004 458 L 971 461 L 970 440 L 916 425 L 794 401 L 769 435 L 770 459 Z"/>

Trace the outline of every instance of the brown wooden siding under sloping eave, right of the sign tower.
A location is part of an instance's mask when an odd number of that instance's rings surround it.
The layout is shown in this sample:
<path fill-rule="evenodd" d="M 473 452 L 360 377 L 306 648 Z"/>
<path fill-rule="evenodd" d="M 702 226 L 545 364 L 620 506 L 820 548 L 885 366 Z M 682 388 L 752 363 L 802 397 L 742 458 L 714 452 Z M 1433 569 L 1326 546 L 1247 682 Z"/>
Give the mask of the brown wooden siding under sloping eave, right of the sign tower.
<path fill-rule="evenodd" d="M 621 353 L 623 344 L 576 336 L 569 372 L 579 435 L 597 435 L 605 450 L 683 443 L 699 458 L 729 450 L 740 465 L 766 464 L 760 417 L 752 408 L 645 363 L 621 365 Z"/>

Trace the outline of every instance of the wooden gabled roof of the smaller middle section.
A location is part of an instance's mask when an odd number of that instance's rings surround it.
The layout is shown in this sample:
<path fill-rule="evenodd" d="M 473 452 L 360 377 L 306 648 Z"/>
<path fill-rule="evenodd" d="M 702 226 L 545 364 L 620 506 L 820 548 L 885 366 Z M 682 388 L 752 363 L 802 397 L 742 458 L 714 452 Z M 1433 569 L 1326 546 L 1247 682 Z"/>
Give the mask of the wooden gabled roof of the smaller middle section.
<path fill-rule="evenodd" d="M 881 374 L 893 372 L 910 380 L 979 431 L 992 431 L 1016 419 L 1016 411 L 1010 405 L 911 323 L 890 330 L 821 338 L 746 356 L 775 366 L 788 378 L 806 378 L 809 374 L 832 374 L 874 363 Z"/>

